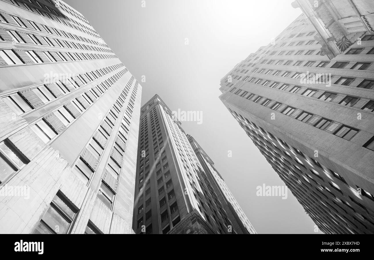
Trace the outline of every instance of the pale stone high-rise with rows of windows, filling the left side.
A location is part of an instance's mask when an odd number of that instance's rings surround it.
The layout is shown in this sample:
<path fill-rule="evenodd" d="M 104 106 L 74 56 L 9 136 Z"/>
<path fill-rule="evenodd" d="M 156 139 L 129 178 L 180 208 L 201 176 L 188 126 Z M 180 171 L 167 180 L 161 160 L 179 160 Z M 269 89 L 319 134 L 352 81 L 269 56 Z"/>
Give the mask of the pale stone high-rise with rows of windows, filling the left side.
<path fill-rule="evenodd" d="M 0 11 L 0 233 L 134 233 L 141 86 L 64 2 Z"/>

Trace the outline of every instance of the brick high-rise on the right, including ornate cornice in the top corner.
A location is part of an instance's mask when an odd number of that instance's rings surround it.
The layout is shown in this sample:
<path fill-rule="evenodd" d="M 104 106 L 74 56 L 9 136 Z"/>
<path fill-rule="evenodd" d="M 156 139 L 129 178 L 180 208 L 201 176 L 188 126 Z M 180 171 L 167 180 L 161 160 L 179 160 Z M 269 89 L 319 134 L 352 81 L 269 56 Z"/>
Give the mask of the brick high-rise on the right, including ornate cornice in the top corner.
<path fill-rule="evenodd" d="M 220 99 L 325 233 L 374 233 L 372 1 L 304 1 Z"/>

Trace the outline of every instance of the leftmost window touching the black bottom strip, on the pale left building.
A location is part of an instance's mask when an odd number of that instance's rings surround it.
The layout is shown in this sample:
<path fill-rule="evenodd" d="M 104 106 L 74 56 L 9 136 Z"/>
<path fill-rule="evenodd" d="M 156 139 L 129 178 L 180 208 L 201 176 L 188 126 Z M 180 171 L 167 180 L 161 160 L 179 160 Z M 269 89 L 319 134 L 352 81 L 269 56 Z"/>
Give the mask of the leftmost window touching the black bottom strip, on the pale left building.
<path fill-rule="evenodd" d="M 43 215 L 34 234 L 67 234 L 77 216 L 77 209 L 58 192 Z M 58 227 L 58 229 L 56 229 Z"/>

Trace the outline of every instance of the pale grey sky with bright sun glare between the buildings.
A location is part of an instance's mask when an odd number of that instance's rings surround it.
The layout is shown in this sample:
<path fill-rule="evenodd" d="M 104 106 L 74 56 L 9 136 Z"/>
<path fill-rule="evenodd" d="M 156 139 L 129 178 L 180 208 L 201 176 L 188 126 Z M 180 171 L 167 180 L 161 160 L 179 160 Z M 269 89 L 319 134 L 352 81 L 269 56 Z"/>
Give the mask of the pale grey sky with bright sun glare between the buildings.
<path fill-rule="evenodd" d="M 256 195 L 257 186 L 284 183 L 218 98 L 221 78 L 301 14 L 292 1 L 65 0 L 141 83 L 142 104 L 158 94 L 171 111 L 200 113 L 182 127 L 259 234 L 321 233 L 290 191 Z"/>

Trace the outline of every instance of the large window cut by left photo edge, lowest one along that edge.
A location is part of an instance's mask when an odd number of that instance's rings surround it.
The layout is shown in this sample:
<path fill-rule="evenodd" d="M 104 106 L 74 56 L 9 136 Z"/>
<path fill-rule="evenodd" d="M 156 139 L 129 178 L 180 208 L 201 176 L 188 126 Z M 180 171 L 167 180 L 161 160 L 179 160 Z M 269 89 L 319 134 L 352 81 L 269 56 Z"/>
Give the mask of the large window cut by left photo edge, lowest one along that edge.
<path fill-rule="evenodd" d="M 0 143 L 0 184 L 22 169 L 28 160 L 6 139 Z"/>

